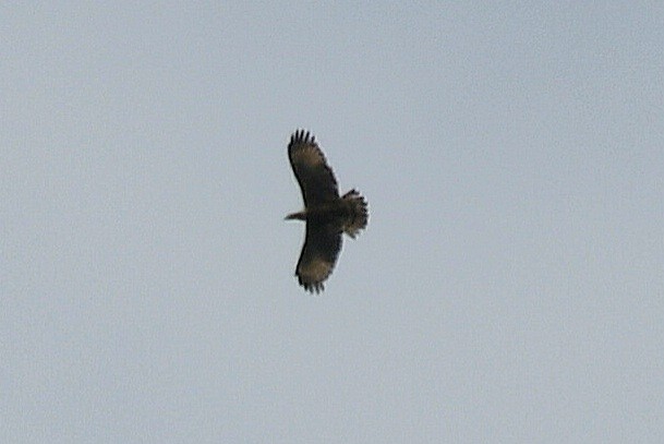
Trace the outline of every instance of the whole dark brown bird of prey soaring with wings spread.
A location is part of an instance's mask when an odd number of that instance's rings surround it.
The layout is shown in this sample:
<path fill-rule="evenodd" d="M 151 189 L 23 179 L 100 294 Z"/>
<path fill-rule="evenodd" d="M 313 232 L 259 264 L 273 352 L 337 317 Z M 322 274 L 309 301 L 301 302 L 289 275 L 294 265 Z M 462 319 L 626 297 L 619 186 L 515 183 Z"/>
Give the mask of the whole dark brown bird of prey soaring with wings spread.
<path fill-rule="evenodd" d="M 306 223 L 295 276 L 305 290 L 318 293 L 339 256 L 341 235 L 354 239 L 366 227 L 366 201 L 355 190 L 339 196 L 335 175 L 309 131 L 298 130 L 290 136 L 288 158 L 302 190 L 304 209 L 286 219 Z"/>

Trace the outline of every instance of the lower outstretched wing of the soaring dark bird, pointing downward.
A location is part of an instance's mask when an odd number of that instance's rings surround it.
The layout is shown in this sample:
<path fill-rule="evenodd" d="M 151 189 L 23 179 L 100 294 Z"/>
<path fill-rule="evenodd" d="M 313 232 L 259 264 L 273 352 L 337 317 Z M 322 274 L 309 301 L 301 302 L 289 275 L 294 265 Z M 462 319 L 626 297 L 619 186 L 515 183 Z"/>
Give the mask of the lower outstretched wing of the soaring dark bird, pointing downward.
<path fill-rule="evenodd" d="M 331 274 L 340 250 L 339 227 L 307 223 L 304 245 L 295 268 L 300 285 L 311 292 L 322 291 L 323 281 Z"/>

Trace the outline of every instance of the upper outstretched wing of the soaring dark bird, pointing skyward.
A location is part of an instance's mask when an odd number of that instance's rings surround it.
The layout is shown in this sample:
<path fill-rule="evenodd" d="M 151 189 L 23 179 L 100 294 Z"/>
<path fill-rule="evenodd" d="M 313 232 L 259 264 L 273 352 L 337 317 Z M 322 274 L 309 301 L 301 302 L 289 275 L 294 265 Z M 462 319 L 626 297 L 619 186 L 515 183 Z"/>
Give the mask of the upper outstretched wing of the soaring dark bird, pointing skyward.
<path fill-rule="evenodd" d="M 309 132 L 299 130 L 290 136 L 288 158 L 302 190 L 304 206 L 339 199 L 335 175 Z"/>

